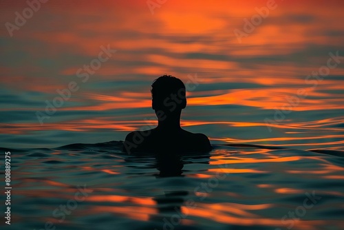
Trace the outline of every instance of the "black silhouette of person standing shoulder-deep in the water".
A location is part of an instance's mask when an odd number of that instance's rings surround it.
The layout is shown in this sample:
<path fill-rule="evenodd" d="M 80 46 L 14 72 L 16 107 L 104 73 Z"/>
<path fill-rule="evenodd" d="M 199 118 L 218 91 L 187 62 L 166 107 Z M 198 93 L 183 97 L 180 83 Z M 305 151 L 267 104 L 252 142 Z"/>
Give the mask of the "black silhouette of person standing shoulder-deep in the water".
<path fill-rule="evenodd" d="M 180 127 L 180 114 L 186 107 L 186 88 L 180 79 L 171 75 L 160 76 L 151 85 L 151 95 L 158 127 L 129 133 L 123 143 L 125 151 L 211 150 L 211 143 L 206 135 L 193 134 Z"/>

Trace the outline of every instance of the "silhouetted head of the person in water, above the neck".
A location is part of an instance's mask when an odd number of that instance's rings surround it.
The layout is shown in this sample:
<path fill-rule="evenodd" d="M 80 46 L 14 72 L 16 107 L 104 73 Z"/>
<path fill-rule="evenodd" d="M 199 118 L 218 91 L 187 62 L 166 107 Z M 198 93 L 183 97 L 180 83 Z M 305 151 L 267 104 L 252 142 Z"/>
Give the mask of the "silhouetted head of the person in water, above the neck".
<path fill-rule="evenodd" d="M 151 85 L 152 108 L 164 114 L 180 113 L 186 107 L 184 83 L 175 76 L 164 75 Z"/>

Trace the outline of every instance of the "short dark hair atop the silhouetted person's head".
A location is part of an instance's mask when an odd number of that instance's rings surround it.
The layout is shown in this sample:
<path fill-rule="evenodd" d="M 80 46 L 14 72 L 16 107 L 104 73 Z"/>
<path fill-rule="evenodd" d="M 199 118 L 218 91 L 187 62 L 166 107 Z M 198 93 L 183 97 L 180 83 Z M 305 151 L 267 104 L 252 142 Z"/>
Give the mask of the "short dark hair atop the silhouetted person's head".
<path fill-rule="evenodd" d="M 175 76 L 164 74 L 153 81 L 151 96 L 155 105 L 163 107 L 164 101 L 171 94 L 177 94 L 180 99 L 185 100 L 186 88 L 182 80 Z"/>

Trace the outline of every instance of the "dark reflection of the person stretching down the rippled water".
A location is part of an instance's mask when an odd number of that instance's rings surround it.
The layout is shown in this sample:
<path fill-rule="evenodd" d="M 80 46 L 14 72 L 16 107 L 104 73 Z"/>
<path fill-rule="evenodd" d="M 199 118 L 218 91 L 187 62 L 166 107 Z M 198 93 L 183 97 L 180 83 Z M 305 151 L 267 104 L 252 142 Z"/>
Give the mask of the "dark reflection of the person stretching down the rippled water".
<path fill-rule="evenodd" d="M 155 178 L 155 187 L 149 190 L 147 196 L 153 197 L 153 208 L 156 211 L 149 216 L 147 229 L 197 229 L 183 220 L 193 218 L 191 212 L 197 208 L 197 202 L 200 202 L 195 191 L 198 191 L 197 187 L 204 182 L 204 179 L 193 175 L 198 172 L 193 171 L 193 164 L 198 167 L 200 164 L 208 165 L 210 156 L 210 152 L 155 152 L 137 153 L 124 158 L 127 167 L 140 169 L 137 175 L 142 179 L 147 176 Z M 189 168 L 185 169 L 188 166 Z M 157 172 L 152 173 L 151 169 L 157 169 Z"/>

